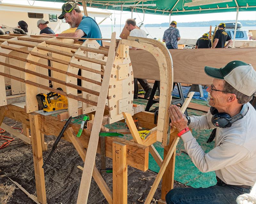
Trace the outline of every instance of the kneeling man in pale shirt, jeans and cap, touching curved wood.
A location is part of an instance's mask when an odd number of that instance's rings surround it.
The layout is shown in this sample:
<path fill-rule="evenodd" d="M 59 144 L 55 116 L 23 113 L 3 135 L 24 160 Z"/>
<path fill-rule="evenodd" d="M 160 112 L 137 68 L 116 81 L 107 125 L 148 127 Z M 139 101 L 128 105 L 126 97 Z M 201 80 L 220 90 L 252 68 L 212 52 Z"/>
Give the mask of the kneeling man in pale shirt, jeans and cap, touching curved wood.
<path fill-rule="evenodd" d="M 202 172 L 215 171 L 217 184 L 208 188 L 175 188 L 167 204 L 234 203 L 249 193 L 256 182 L 256 112 L 249 103 L 256 91 L 256 72 L 251 64 L 229 62 L 216 69 L 205 67 L 212 77 L 207 88 L 210 111 L 186 118 L 177 106 L 169 108 L 170 126 L 180 132 L 185 149 Z M 205 153 L 189 128 L 215 129 L 215 147 Z"/>

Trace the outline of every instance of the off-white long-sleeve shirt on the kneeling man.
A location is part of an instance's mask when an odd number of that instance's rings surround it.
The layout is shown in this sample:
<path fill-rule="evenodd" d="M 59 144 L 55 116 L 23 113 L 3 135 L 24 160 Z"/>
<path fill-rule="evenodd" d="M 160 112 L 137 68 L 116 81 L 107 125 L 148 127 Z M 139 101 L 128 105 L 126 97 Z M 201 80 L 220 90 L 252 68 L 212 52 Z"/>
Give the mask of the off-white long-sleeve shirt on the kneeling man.
<path fill-rule="evenodd" d="M 256 111 L 249 110 L 229 128 L 217 128 L 215 147 L 205 153 L 189 131 L 181 138 L 196 167 L 202 172 L 215 171 L 226 184 L 253 186 L 256 182 Z M 213 129 L 210 111 L 203 116 L 190 117 L 189 128 Z"/>

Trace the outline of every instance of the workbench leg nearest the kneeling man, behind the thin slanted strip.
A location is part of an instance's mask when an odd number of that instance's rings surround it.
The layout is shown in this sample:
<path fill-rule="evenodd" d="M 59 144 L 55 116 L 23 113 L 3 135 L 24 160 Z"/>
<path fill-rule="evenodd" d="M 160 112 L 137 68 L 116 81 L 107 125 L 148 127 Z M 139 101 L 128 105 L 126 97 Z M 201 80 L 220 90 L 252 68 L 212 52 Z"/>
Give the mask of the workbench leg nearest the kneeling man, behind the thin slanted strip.
<path fill-rule="evenodd" d="M 171 141 L 169 142 L 169 145 L 164 147 L 164 159 L 172 145 L 173 141 L 173 136 L 171 135 Z M 174 185 L 174 169 L 175 169 L 175 156 L 176 156 L 176 148 L 174 149 L 174 152 L 172 154 L 171 160 L 169 164 L 166 167 L 166 170 L 163 175 L 163 180 L 162 180 L 162 191 L 161 191 L 161 199 L 158 200 L 159 204 L 166 204 L 165 201 L 165 196 L 166 194 L 173 189 Z"/>

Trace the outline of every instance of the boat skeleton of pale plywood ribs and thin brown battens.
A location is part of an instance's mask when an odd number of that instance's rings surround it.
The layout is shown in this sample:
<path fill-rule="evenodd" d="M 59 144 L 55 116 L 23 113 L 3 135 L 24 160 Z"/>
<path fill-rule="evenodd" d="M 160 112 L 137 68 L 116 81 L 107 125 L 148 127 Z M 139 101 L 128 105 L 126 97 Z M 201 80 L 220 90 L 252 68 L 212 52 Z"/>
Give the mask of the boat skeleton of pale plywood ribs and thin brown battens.
<path fill-rule="evenodd" d="M 82 101 L 82 114 L 96 110 L 101 77 L 108 58 L 114 57 L 115 52 L 109 56 L 108 48 L 89 39 L 78 45 L 74 39 L 66 38 L 29 35 L 3 37 L 6 39 L 0 44 L 0 106 L 7 104 L 4 79 L 10 78 L 16 84 L 12 84 L 12 89 L 27 93 L 27 113 L 38 110 L 36 94 L 49 91 L 67 97 L 69 116 L 78 116 L 78 101 Z M 129 49 L 128 46 L 124 47 Z M 122 111 L 133 112 L 133 75 L 129 52 L 125 60 L 116 58 L 114 63 L 105 105 L 109 112 L 109 123 L 122 120 Z M 48 76 L 48 69 L 52 77 Z M 77 75 L 79 69 L 81 76 Z M 119 72 L 122 74 L 118 75 Z M 77 85 L 77 79 L 82 80 L 82 86 Z M 49 80 L 53 88 L 49 87 Z M 17 84 L 20 88 L 17 88 Z M 63 91 L 57 90 L 58 87 Z M 82 97 L 77 96 L 77 90 L 82 91 Z"/>

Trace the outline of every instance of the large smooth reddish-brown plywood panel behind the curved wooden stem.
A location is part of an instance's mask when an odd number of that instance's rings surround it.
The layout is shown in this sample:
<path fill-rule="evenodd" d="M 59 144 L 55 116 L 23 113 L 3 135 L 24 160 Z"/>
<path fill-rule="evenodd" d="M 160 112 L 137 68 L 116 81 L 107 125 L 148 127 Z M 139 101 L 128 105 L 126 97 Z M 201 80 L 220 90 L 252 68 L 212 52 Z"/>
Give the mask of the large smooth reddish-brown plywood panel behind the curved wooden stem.
<path fill-rule="evenodd" d="M 174 82 L 188 84 L 212 83 L 212 78 L 204 73 L 204 66 L 223 67 L 233 60 L 252 64 L 256 69 L 256 48 L 228 49 L 170 49 L 173 60 Z M 134 77 L 160 79 L 159 67 L 152 54 L 145 50 L 130 50 Z"/>

